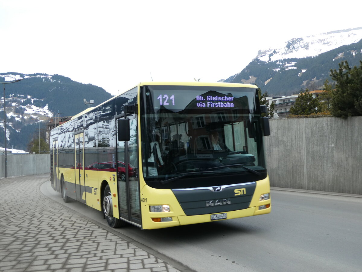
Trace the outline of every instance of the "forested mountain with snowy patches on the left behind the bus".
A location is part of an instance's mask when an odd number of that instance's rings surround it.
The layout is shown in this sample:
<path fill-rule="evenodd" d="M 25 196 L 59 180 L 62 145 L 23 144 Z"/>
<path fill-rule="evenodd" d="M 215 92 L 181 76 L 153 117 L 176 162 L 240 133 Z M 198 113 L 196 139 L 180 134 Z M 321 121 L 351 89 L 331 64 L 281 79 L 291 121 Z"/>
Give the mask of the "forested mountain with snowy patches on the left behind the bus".
<path fill-rule="evenodd" d="M 96 105 L 111 98 L 103 88 L 62 75 L 0 73 L 0 82 L 17 79 L 23 80 L 5 85 L 7 143 L 16 149 L 26 150 L 32 137 L 38 137 L 35 132 L 46 129 L 49 118 L 58 112 L 61 117 L 85 110 L 88 106 L 83 98 L 94 100 Z M 3 147 L 4 96 L 0 96 L 0 147 Z"/>

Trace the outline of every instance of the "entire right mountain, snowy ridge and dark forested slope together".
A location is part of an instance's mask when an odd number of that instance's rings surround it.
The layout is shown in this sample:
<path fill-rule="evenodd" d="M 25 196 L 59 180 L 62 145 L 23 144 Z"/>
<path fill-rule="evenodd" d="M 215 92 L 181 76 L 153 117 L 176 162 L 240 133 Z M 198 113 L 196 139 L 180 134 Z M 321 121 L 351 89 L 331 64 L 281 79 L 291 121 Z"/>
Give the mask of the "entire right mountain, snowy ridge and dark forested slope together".
<path fill-rule="evenodd" d="M 330 70 L 341 61 L 351 67 L 362 60 L 362 27 L 292 38 L 279 46 L 260 50 L 238 74 L 224 82 L 249 83 L 270 96 L 291 95 L 302 89 L 318 90 Z"/>

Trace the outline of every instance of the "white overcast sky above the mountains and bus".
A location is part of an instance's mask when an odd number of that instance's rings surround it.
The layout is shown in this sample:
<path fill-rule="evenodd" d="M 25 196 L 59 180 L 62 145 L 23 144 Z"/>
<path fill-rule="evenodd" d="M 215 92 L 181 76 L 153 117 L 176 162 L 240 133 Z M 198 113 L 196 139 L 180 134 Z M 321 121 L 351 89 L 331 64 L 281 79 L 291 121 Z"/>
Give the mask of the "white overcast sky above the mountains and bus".
<path fill-rule="evenodd" d="M 360 0 L 0 0 L 0 73 L 60 74 L 113 95 L 151 76 L 216 82 L 260 49 L 361 27 L 360 12 Z"/>

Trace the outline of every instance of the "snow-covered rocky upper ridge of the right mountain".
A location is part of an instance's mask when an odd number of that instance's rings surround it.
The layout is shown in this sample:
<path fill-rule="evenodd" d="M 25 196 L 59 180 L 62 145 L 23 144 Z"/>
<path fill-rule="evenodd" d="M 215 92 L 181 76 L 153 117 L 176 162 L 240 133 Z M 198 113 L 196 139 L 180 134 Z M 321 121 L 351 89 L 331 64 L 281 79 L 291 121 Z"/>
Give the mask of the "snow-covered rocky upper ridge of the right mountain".
<path fill-rule="evenodd" d="M 315 57 L 342 45 L 353 44 L 361 39 L 362 27 L 292 38 L 273 48 L 259 50 L 256 58 L 268 62 L 286 58 Z"/>

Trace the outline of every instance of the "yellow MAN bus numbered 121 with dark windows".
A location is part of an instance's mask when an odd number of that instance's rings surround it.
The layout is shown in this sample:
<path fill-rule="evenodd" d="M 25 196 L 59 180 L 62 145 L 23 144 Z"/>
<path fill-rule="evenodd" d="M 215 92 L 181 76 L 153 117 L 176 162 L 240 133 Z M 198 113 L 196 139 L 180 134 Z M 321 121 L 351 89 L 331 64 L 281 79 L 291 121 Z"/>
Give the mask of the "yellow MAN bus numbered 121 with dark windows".
<path fill-rule="evenodd" d="M 111 227 L 270 213 L 257 86 L 143 82 L 52 129 L 51 186 Z"/>

